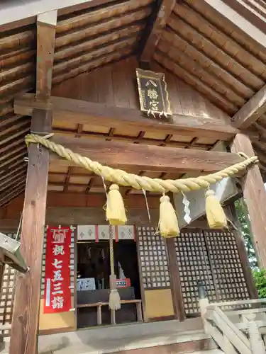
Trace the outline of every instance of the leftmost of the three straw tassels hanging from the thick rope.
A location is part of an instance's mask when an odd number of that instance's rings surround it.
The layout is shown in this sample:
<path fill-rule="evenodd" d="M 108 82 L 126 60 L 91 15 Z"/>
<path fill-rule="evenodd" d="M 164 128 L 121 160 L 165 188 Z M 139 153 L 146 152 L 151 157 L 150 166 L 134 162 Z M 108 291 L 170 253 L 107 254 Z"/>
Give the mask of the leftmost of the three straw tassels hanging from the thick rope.
<path fill-rule="evenodd" d="M 126 210 L 119 186 L 112 184 L 107 195 L 106 218 L 111 225 L 126 224 Z"/>

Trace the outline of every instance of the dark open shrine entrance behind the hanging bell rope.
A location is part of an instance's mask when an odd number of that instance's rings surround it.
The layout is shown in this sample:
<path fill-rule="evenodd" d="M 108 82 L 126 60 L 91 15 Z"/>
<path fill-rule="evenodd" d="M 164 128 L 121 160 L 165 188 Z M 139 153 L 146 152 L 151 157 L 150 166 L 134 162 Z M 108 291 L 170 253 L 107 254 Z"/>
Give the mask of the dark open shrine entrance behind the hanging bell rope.
<path fill-rule="evenodd" d="M 109 309 L 109 227 L 95 225 L 93 232 L 81 231 L 85 228 L 81 226 L 77 232 L 77 329 L 142 321 L 134 228 L 118 227 L 113 239 L 116 286 L 121 297 L 121 309 L 116 312 Z"/>

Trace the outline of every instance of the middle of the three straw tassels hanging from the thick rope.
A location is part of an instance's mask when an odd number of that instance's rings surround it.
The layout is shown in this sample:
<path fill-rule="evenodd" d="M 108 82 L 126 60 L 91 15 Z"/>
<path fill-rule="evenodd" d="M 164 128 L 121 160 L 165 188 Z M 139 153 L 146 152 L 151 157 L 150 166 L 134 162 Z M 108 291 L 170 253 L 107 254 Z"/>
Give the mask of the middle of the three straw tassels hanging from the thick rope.
<path fill-rule="evenodd" d="M 176 237 L 179 235 L 177 214 L 167 195 L 160 198 L 160 234 L 164 237 Z"/>

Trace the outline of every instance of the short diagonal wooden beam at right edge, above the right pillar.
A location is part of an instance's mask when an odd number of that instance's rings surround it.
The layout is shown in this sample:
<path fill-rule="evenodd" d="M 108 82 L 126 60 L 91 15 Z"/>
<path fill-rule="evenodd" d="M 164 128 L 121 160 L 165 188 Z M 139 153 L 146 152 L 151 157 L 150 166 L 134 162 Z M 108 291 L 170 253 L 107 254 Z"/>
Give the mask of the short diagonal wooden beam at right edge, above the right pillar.
<path fill-rule="evenodd" d="M 236 128 L 250 127 L 263 113 L 266 112 L 266 85 L 257 91 L 250 100 L 243 105 L 232 118 Z"/>

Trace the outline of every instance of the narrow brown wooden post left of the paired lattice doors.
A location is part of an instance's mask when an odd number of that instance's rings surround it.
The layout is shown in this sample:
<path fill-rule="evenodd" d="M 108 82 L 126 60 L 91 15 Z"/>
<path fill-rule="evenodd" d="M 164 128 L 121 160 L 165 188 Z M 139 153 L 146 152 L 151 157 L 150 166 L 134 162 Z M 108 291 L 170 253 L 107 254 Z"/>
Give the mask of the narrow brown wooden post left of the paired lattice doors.
<path fill-rule="evenodd" d="M 169 273 L 170 273 L 170 283 L 172 290 L 172 302 L 174 306 L 174 314 L 177 316 L 179 321 L 184 321 L 184 302 L 182 296 L 182 288 L 179 277 L 179 267 L 177 262 L 177 253 L 175 251 L 174 239 L 166 239 L 168 261 L 169 261 Z"/>

